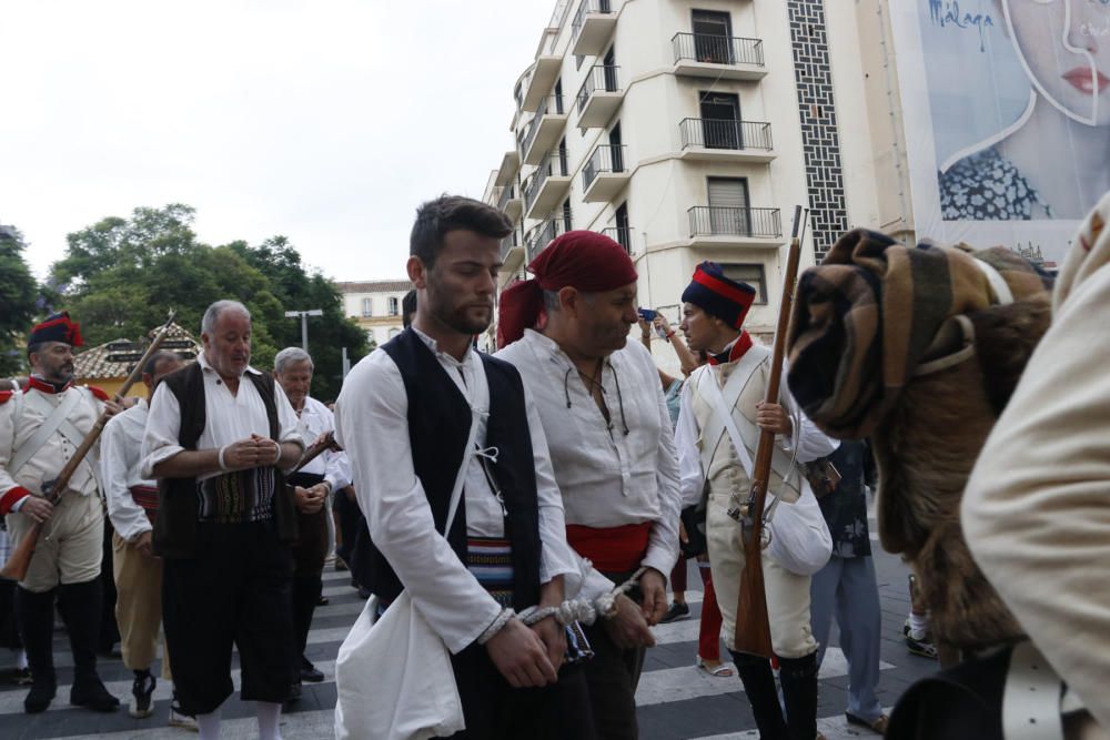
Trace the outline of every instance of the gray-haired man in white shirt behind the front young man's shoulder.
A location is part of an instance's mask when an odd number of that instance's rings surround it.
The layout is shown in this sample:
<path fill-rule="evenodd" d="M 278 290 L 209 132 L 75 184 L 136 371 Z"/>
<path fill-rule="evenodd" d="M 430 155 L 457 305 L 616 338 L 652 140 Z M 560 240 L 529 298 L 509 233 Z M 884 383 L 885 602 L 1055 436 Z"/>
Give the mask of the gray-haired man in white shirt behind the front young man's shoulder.
<path fill-rule="evenodd" d="M 313 369 L 312 357 L 300 347 L 285 347 L 274 357 L 274 377 L 296 412 L 297 430 L 306 445 L 321 442 L 335 430 L 335 417 L 331 409 L 309 395 Z M 293 628 L 301 660 L 300 678 L 302 681 L 320 682 L 324 680 L 324 675 L 312 665 L 304 651 L 312 627 L 312 612 L 323 591 L 321 576 L 330 549 L 329 497 L 332 491 L 351 485 L 346 453 L 329 448 L 290 475 L 286 481 L 294 486 L 300 530 L 293 547 Z"/>

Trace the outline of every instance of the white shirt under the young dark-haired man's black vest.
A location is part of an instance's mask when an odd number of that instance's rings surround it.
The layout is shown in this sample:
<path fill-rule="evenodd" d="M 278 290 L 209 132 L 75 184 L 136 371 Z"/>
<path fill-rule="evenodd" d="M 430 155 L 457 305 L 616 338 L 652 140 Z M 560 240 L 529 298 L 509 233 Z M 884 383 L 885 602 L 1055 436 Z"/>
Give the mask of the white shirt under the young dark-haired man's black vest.
<path fill-rule="evenodd" d="M 435 353 L 472 408 L 486 410 L 490 388 L 485 367 L 473 349 L 462 362 L 436 349 L 433 339 L 417 336 Z M 566 545 L 566 525 L 543 427 L 525 389 L 539 507 L 542 544 L 539 580 L 576 578 L 577 561 Z M 485 447 L 485 420 L 477 445 Z M 359 505 L 366 515 L 371 539 L 385 556 L 421 614 L 452 652 L 471 645 L 488 627 L 501 607 L 466 569 L 443 534 L 436 530 L 432 508 L 413 468 L 408 443 L 408 396 L 401 371 L 383 349 L 375 349 L 347 375 L 335 404 L 335 430 L 351 458 Z M 463 505 L 467 535 L 498 537 L 504 515 L 477 459 L 466 470 Z M 573 586 L 567 585 L 567 592 Z"/>

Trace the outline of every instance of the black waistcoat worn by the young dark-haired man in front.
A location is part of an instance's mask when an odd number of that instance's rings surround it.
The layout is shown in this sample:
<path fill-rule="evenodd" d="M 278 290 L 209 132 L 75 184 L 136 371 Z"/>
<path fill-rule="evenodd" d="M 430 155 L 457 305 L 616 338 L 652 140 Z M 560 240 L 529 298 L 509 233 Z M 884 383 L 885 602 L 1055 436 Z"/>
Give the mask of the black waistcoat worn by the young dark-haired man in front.
<path fill-rule="evenodd" d="M 386 343 L 385 351 L 401 369 L 408 396 L 408 443 L 413 469 L 420 478 L 435 527 L 443 531 L 447 521 L 451 493 L 470 435 L 471 409 L 454 381 L 427 345 L 406 330 Z M 513 604 L 517 609 L 539 600 L 539 513 L 536 503 L 536 472 L 532 436 L 524 406 L 524 384 L 508 363 L 480 355 L 490 385 L 490 418 L 486 447 L 498 449 L 497 463 L 490 468 L 501 487 L 508 514 L 505 536 L 513 547 Z M 356 455 L 356 450 L 352 450 Z M 492 495 L 492 494 L 491 494 Z M 455 514 L 447 543 L 466 564 L 466 506 Z M 396 574 L 373 543 L 359 543 L 364 550 L 355 555 L 365 575 L 360 575 L 379 598 L 395 599 L 403 587 Z"/>

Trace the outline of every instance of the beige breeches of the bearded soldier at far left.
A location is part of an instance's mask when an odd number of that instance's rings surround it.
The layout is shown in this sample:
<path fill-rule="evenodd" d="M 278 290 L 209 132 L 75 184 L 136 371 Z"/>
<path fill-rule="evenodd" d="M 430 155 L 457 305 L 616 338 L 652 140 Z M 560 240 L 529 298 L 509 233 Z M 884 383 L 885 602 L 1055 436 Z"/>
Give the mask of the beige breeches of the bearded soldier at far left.
<path fill-rule="evenodd" d="M 34 526 L 26 514 L 8 515 L 12 548 L 19 547 Z M 20 586 L 43 594 L 61 584 L 84 584 L 100 575 L 104 557 L 104 513 L 99 496 L 67 493 L 42 527 Z"/>

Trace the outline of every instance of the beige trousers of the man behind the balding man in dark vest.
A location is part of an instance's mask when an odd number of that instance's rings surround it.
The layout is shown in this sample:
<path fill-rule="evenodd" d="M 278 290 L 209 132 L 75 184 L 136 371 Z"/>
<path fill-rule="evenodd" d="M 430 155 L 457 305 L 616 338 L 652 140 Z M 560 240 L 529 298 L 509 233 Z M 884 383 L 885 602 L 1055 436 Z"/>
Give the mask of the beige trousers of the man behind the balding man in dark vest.
<path fill-rule="evenodd" d="M 112 569 L 123 665 L 131 670 L 150 668 L 158 657 L 162 627 L 162 560 L 143 555 L 134 545 L 112 534 Z M 162 678 L 170 678 L 170 653 L 164 645 Z"/>

